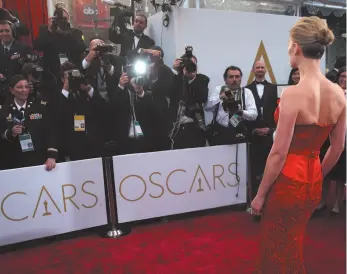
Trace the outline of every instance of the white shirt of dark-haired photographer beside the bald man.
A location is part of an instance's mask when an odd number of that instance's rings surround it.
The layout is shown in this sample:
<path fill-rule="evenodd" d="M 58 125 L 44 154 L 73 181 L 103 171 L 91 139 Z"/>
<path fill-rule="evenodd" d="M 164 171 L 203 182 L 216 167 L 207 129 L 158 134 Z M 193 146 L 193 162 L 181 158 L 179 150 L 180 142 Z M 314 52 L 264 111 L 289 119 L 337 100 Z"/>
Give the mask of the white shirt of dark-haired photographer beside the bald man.
<path fill-rule="evenodd" d="M 223 109 L 222 100 L 219 98 L 221 87 L 222 86 L 216 87 L 217 93 L 215 96 L 209 98 L 206 104 L 206 110 L 212 110 L 214 106 L 220 103 L 216 116 L 216 122 L 221 126 L 228 127 L 230 123 L 229 112 Z M 258 111 L 254 96 L 252 94 L 252 91 L 250 91 L 248 88 L 244 88 L 243 90 L 245 93 L 245 102 L 242 102 L 242 104 L 244 105 L 242 118 L 248 121 L 254 121 L 258 117 Z"/>

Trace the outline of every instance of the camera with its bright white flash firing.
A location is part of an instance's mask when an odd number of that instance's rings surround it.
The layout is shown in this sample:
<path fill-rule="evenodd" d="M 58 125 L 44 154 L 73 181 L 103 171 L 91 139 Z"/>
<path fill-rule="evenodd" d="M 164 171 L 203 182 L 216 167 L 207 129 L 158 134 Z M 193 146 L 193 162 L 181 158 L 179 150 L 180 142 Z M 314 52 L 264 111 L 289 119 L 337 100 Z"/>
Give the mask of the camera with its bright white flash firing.
<path fill-rule="evenodd" d="M 150 76 L 149 61 L 145 58 L 135 59 L 134 63 L 128 63 L 123 67 L 123 71 L 135 85 L 144 86 L 148 83 Z"/>

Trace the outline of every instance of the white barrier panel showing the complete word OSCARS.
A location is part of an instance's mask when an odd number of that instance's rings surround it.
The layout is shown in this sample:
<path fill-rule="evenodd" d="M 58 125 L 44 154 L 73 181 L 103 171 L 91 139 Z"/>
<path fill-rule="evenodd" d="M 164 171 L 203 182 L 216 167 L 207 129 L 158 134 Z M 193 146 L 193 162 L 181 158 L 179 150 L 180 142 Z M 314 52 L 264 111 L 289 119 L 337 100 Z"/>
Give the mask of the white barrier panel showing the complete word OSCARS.
<path fill-rule="evenodd" d="M 246 144 L 116 156 L 113 166 L 120 223 L 246 203 Z"/>

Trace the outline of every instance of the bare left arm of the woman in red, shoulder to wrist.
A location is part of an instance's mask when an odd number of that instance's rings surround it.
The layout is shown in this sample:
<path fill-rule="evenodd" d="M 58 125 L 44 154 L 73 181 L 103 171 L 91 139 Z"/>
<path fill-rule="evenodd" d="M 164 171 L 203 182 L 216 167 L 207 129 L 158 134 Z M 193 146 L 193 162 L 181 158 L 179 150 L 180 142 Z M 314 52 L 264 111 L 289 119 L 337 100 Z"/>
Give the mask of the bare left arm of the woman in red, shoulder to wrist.
<path fill-rule="evenodd" d="M 257 196 L 264 198 L 280 174 L 286 161 L 288 150 L 292 142 L 296 118 L 298 116 L 296 87 L 283 92 L 280 103 L 280 114 L 271 152 L 266 161 L 266 167 Z M 293 94 L 294 93 L 294 94 Z"/>

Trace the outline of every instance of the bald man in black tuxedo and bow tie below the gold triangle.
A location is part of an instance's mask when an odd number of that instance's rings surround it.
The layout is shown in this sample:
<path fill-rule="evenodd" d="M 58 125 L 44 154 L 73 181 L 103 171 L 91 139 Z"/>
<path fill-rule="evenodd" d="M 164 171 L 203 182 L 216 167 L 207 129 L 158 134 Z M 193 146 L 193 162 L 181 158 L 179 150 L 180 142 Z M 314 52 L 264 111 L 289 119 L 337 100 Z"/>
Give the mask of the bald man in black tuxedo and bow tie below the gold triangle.
<path fill-rule="evenodd" d="M 274 113 L 277 107 L 277 86 L 266 81 L 264 61 L 256 61 L 253 65 L 253 72 L 255 80 L 246 86 L 253 93 L 258 111 L 251 138 L 252 199 L 257 193 L 272 147 L 272 135 L 276 128 Z"/>

